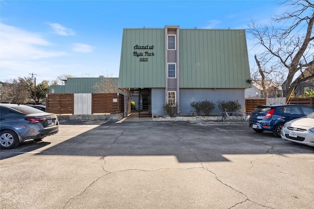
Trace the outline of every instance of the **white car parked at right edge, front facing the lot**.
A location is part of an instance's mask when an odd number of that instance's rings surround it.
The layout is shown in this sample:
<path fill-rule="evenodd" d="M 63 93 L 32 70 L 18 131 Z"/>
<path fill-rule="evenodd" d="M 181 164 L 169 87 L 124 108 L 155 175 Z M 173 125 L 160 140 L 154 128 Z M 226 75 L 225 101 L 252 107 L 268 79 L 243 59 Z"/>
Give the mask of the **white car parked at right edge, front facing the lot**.
<path fill-rule="evenodd" d="M 285 123 L 281 130 L 281 138 L 314 146 L 314 112 Z"/>

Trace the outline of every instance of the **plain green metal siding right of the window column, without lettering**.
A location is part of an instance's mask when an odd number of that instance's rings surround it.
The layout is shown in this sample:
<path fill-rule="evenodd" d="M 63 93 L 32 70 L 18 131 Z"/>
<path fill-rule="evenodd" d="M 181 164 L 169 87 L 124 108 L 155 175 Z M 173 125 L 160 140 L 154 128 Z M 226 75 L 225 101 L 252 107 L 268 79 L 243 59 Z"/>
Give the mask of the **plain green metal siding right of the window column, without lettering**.
<path fill-rule="evenodd" d="M 245 30 L 180 29 L 180 88 L 248 88 Z"/>

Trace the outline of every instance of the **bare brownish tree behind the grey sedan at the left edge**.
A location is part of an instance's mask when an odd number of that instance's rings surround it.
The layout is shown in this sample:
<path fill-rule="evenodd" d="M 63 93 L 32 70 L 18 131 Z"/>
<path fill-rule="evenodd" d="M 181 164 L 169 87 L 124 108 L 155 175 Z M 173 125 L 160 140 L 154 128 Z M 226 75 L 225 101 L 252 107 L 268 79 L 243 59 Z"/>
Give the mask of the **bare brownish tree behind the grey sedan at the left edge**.
<path fill-rule="evenodd" d="M 31 98 L 31 86 L 26 78 L 19 77 L 2 83 L 1 102 L 11 102 L 16 104 L 26 104 Z"/>

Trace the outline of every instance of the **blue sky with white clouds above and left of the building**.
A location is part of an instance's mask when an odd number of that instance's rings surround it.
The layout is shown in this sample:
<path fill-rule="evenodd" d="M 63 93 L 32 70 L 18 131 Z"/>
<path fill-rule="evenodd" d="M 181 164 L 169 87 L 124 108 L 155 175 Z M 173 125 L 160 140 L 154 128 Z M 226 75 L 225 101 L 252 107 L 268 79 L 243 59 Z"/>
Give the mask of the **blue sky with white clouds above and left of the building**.
<path fill-rule="evenodd" d="M 118 77 L 123 28 L 246 29 L 252 18 L 267 23 L 281 14 L 279 2 L 0 0 L 0 81 L 32 73 L 36 82 L 62 74 Z"/>

